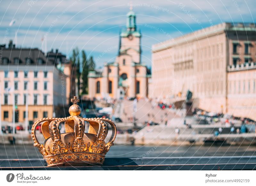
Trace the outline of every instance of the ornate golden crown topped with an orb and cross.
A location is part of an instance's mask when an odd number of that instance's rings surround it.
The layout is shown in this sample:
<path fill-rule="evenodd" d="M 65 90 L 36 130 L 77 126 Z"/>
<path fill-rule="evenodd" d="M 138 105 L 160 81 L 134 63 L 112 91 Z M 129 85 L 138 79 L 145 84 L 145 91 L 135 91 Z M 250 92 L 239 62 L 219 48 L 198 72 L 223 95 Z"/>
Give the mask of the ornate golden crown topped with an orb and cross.
<path fill-rule="evenodd" d="M 82 118 L 79 116 L 81 108 L 76 103 L 79 99 L 71 99 L 73 105 L 69 107 L 70 116 L 67 118 L 43 118 L 37 120 L 31 131 L 34 146 L 38 147 L 50 166 L 65 165 L 102 165 L 109 148 L 114 145 L 116 125 L 106 118 Z M 65 133 L 60 133 L 60 124 L 64 123 Z M 105 143 L 108 134 L 108 124 L 112 128 L 112 135 Z M 41 124 L 44 143 L 40 144 L 36 138 L 36 127 Z M 88 128 L 88 133 L 84 130 Z"/>

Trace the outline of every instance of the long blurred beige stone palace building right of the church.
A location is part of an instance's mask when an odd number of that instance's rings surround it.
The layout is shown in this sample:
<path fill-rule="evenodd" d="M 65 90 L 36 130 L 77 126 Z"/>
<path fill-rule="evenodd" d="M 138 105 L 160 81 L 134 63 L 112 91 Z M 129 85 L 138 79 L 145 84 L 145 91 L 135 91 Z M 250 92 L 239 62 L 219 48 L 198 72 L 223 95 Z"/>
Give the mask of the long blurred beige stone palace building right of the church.
<path fill-rule="evenodd" d="M 190 90 L 194 109 L 256 119 L 255 31 L 223 23 L 153 45 L 150 97 L 183 103 Z"/>

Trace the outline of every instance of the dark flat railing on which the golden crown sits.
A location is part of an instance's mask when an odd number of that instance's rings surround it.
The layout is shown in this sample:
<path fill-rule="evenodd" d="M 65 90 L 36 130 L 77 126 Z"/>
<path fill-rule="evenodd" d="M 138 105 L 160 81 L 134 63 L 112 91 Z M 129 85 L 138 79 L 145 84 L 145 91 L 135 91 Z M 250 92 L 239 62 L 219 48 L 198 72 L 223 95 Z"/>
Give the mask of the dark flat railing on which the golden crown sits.
<path fill-rule="evenodd" d="M 47 167 L 44 159 L 0 159 L 1 170 L 256 170 L 256 156 L 106 158 L 103 166 Z"/>

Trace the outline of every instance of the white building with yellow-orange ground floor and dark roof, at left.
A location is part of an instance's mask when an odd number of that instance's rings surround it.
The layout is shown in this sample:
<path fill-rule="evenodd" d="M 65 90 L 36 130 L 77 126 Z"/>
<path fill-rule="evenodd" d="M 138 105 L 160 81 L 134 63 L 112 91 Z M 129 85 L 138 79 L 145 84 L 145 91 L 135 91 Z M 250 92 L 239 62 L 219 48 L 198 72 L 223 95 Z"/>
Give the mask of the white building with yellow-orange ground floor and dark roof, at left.
<path fill-rule="evenodd" d="M 15 48 L 12 43 L 8 48 L 2 45 L 0 55 L 2 121 L 12 122 L 13 103 L 16 122 L 25 121 L 26 102 L 29 121 L 54 117 L 66 105 L 67 76 L 56 59 L 46 58 L 38 49 Z"/>

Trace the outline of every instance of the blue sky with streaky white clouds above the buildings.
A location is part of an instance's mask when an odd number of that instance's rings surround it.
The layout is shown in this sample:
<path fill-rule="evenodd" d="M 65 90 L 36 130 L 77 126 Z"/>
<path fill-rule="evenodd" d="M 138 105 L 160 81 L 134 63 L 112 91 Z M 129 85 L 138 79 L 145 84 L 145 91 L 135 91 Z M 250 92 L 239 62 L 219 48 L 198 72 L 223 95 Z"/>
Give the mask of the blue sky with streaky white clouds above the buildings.
<path fill-rule="evenodd" d="M 18 46 L 42 47 L 46 38 L 47 50 L 58 48 L 64 54 L 76 46 L 92 55 L 99 68 L 115 60 L 119 32 L 125 27 L 130 4 L 137 15 L 142 33 L 142 62 L 151 65 L 151 46 L 204 27 L 209 19 L 222 22 L 255 22 L 255 0 L 169 1 L 169 0 L 23 0 L 0 1 L 0 33 L 3 42 L 18 33 Z M 10 22 L 15 23 L 10 27 Z M 150 28 L 154 27 L 154 28 Z M 163 32 L 162 32 L 163 31 Z M 44 47 L 42 48 L 44 51 Z"/>

